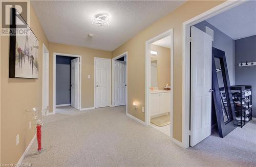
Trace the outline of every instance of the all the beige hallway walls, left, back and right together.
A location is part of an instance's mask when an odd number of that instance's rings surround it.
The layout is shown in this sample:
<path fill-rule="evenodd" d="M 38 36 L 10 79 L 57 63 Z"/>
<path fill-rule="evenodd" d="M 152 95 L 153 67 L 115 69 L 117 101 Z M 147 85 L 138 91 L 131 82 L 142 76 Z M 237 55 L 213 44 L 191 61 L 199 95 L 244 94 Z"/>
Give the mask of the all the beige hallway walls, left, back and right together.
<path fill-rule="evenodd" d="M 174 131 L 173 136 L 182 141 L 182 23 L 200 13 L 211 9 L 222 1 L 189 1 L 183 6 L 156 21 L 134 38 L 125 42 L 112 53 L 50 43 L 31 7 L 31 29 L 39 39 L 39 79 L 9 78 L 9 37 L 1 37 L 1 163 L 16 163 L 27 148 L 35 134 L 35 128 L 29 130 L 30 117 L 24 112 L 26 108 L 40 106 L 42 101 L 42 43 L 50 51 L 50 97 L 53 100 L 53 52 L 82 55 L 82 108 L 92 107 L 93 102 L 93 61 L 94 57 L 111 58 L 127 51 L 128 57 L 128 112 L 145 120 L 141 107 L 145 103 L 145 41 L 171 28 L 174 29 Z M 87 75 L 91 75 L 88 79 Z M 139 102 L 135 110 L 132 103 Z M 16 135 L 19 134 L 19 145 L 16 146 Z"/>

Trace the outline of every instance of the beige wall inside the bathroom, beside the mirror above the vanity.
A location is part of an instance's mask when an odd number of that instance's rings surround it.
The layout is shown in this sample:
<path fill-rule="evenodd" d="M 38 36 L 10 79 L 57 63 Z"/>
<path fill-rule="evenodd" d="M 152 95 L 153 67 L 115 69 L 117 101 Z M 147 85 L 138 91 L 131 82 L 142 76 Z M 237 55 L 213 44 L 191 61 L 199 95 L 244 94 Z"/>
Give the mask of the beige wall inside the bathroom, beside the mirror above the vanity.
<path fill-rule="evenodd" d="M 157 51 L 157 86 L 164 90 L 166 84 L 170 86 L 170 49 L 151 44 L 151 50 Z"/>

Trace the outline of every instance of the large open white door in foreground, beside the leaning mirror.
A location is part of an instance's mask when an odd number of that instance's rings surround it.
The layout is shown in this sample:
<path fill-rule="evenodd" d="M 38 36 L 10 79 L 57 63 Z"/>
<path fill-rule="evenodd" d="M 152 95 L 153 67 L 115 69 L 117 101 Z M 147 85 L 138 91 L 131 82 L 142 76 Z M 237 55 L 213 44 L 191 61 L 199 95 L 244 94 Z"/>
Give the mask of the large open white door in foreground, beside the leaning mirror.
<path fill-rule="evenodd" d="M 211 37 L 191 27 L 190 146 L 211 134 Z"/>

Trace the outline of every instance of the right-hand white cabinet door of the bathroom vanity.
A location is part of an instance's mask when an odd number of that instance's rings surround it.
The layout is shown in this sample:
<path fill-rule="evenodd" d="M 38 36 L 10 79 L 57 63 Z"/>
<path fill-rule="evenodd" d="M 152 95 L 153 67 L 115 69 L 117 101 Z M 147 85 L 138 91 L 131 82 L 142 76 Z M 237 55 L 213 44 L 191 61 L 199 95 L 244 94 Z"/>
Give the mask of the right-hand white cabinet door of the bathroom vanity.
<path fill-rule="evenodd" d="M 159 94 L 160 108 L 159 114 L 170 112 L 170 93 Z"/>

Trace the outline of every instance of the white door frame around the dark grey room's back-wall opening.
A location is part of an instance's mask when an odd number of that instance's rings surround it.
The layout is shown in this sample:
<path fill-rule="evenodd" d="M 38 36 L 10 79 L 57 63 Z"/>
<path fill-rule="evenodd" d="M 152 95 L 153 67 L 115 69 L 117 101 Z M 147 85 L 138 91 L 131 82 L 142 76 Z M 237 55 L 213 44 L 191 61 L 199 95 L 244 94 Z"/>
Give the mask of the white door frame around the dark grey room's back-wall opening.
<path fill-rule="evenodd" d="M 66 54 L 66 53 L 57 53 L 53 52 L 53 114 L 56 113 L 56 55 L 66 56 L 66 57 L 75 57 L 79 58 L 79 110 L 81 110 L 81 101 L 82 101 L 82 57 L 77 54 Z"/>

